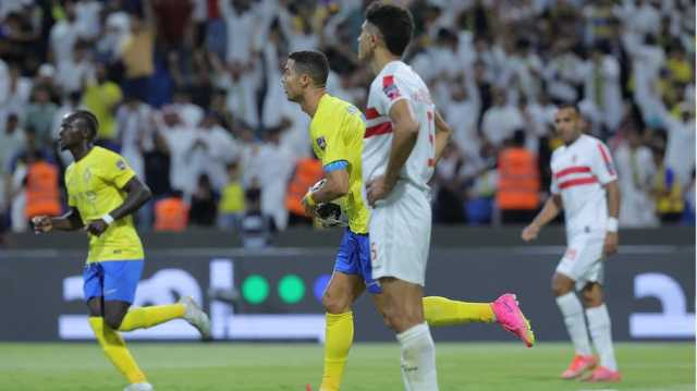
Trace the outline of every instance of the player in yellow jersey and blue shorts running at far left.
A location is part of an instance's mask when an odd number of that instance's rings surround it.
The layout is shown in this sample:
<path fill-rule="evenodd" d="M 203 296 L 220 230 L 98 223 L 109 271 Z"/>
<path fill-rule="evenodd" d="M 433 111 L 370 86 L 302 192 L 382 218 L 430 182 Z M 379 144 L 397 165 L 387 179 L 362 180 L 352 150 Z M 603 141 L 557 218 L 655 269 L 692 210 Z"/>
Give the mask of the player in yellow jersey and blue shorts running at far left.
<path fill-rule="evenodd" d="M 38 216 L 32 222 L 37 233 L 80 229 L 87 233 L 89 253 L 83 278 L 89 326 L 107 357 L 126 377 L 130 386 L 125 391 L 147 391 L 152 386 L 119 331 L 183 318 L 209 338 L 210 321 L 191 297 L 130 309 L 144 264 L 131 215 L 150 198 L 150 191 L 120 155 L 93 145 L 98 125 L 95 115 L 84 110 L 63 118 L 59 145 L 74 159 L 65 171 L 70 210 L 61 217 Z"/>

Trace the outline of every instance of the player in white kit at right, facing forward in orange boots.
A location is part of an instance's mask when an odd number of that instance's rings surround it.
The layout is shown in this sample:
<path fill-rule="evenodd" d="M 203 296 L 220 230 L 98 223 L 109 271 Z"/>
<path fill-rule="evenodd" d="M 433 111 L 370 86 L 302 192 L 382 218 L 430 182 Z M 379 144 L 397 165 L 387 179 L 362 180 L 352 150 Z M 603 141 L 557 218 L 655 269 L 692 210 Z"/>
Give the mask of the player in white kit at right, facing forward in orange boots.
<path fill-rule="evenodd" d="M 526 242 L 535 240 L 540 229 L 564 209 L 567 249 L 552 277 L 552 291 L 576 354 L 562 378 L 620 381 L 601 286 L 604 257 L 617 251 L 617 175 L 606 145 L 583 134 L 578 108 L 560 107 L 554 125 L 564 146 L 552 154 L 552 196 L 523 230 L 522 237 Z M 575 291 L 580 293 L 583 306 Z M 588 331 L 600 363 L 592 355 Z"/>

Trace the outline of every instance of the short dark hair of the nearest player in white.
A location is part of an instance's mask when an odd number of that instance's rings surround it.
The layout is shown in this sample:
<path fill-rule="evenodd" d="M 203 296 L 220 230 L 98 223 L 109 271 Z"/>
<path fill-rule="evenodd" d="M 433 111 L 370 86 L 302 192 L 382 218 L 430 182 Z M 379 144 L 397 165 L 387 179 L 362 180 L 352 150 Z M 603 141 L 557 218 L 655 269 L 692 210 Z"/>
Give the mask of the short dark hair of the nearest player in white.
<path fill-rule="evenodd" d="M 398 5 L 374 2 L 366 10 L 366 21 L 378 27 L 384 45 L 394 56 L 402 56 L 412 41 L 414 17 L 412 13 Z"/>

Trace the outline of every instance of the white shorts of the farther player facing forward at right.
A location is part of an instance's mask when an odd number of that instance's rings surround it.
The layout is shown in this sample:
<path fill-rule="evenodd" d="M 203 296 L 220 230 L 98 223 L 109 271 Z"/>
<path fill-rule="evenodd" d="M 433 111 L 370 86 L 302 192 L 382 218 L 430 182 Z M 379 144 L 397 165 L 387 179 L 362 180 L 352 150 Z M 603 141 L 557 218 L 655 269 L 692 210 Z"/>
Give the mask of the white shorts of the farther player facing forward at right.
<path fill-rule="evenodd" d="M 557 272 L 576 281 L 576 290 L 589 282 L 602 284 L 604 279 L 604 234 L 578 234 L 568 240 L 566 253 L 557 266 Z"/>

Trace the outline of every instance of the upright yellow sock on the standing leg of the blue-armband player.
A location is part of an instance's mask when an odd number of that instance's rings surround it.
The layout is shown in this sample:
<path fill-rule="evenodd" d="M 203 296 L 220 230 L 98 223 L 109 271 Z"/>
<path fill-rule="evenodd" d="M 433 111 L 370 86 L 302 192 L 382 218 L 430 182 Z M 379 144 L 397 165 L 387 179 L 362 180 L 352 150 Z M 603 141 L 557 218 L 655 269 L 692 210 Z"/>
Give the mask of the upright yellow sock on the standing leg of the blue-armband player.
<path fill-rule="evenodd" d="M 325 372 L 320 391 L 338 391 L 353 343 L 353 313 L 327 314 Z"/>

